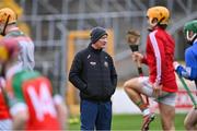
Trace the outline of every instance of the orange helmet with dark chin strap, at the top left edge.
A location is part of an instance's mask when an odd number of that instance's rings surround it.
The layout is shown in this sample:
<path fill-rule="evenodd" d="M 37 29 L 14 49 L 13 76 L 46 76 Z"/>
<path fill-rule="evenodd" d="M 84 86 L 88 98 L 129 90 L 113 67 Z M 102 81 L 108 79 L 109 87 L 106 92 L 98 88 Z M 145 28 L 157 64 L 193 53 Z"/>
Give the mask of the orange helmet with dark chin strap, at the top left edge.
<path fill-rule="evenodd" d="M 5 28 L 10 24 L 16 23 L 16 14 L 9 8 L 0 10 L 0 34 L 5 35 Z"/>

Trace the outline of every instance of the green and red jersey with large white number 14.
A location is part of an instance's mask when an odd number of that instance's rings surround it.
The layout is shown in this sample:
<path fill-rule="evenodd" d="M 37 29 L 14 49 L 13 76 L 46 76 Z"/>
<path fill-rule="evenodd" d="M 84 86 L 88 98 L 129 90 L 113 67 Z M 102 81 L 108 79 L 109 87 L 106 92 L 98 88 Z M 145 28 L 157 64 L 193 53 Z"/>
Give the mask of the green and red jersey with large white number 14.
<path fill-rule="evenodd" d="M 10 84 L 11 114 L 28 111 L 26 130 L 60 130 L 48 79 L 36 71 L 20 71 L 12 76 Z"/>

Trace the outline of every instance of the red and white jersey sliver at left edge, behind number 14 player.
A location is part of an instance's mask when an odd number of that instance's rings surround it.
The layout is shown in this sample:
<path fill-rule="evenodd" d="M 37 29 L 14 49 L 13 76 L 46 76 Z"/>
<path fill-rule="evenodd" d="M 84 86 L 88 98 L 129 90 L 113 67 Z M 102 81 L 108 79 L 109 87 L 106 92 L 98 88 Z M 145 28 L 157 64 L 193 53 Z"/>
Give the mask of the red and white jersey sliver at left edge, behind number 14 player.
<path fill-rule="evenodd" d="M 2 92 L 4 87 L 4 80 L 2 78 L 0 78 L 0 120 L 10 119 L 9 108 Z"/>

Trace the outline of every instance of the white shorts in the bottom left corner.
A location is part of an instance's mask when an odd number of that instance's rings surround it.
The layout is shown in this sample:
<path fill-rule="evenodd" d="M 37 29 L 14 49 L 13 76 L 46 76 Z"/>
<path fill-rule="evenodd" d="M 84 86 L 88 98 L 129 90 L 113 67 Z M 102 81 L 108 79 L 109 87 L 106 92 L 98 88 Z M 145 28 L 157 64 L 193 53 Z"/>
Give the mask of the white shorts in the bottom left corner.
<path fill-rule="evenodd" d="M 0 131 L 11 131 L 11 130 L 12 130 L 11 119 L 0 120 Z"/>

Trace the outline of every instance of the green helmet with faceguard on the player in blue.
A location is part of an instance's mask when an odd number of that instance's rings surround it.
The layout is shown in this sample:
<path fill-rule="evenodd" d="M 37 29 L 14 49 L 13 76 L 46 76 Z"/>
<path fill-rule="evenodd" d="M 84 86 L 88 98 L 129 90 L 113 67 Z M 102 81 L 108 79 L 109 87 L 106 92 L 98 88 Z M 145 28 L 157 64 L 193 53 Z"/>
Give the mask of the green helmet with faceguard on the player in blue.
<path fill-rule="evenodd" d="M 184 25 L 184 35 L 188 44 L 193 45 L 197 38 L 197 20 L 187 22 Z"/>

